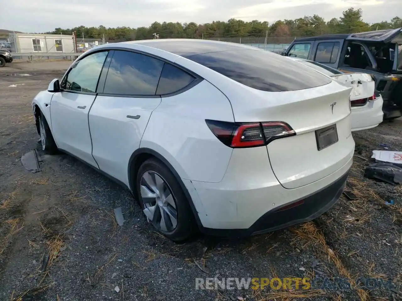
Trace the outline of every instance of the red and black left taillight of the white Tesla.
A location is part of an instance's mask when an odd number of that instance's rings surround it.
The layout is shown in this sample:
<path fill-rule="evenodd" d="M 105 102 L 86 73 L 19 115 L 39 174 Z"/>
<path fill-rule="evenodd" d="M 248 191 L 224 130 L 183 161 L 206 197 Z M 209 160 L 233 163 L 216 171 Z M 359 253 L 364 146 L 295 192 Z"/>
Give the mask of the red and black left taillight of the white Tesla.
<path fill-rule="evenodd" d="M 295 135 L 286 122 L 225 122 L 205 120 L 209 129 L 226 146 L 232 148 L 267 145 L 269 142 Z"/>

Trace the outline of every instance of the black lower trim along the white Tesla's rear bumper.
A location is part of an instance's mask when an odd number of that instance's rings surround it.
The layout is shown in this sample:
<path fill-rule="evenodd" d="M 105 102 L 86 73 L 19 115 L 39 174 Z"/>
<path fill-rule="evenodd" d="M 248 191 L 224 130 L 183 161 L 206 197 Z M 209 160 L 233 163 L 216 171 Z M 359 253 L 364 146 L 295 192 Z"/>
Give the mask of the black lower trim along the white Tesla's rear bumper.
<path fill-rule="evenodd" d="M 201 232 L 213 236 L 247 237 L 314 220 L 314 218 L 326 212 L 339 200 L 345 188 L 348 175 L 349 171 L 313 195 L 284 204 L 286 208 L 289 205 L 297 203 L 294 207 L 289 206 L 289 209 L 275 208 L 265 213 L 248 229 L 202 228 Z"/>

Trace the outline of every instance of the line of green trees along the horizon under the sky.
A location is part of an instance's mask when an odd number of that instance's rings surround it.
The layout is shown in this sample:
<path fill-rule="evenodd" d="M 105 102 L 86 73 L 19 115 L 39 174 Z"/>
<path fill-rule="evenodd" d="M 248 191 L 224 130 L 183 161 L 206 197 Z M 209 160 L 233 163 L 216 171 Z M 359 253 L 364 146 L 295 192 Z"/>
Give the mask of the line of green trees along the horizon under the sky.
<path fill-rule="evenodd" d="M 273 24 L 268 22 L 252 20 L 244 22 L 243 20 L 230 19 L 224 21 L 213 21 L 211 23 L 197 24 L 195 22 L 153 22 L 149 27 L 117 27 L 106 28 L 105 26 L 86 27 L 78 26 L 74 28 L 55 28 L 54 31 L 45 34 L 71 34 L 76 32 L 78 39 L 103 39 L 105 41 L 132 41 L 153 39 L 157 34 L 159 39 L 168 38 L 188 38 L 188 39 L 228 39 L 243 38 L 249 42 L 244 43 L 263 43 L 268 36 L 269 40 L 274 37 L 282 42 L 289 43 L 286 38 L 293 40 L 294 37 L 310 37 L 315 35 L 336 34 L 336 33 L 359 33 L 364 31 L 375 31 L 381 29 L 402 27 L 402 19 L 394 17 L 390 21 L 382 21 L 374 24 L 364 22 L 362 19 L 361 8 L 349 8 L 342 13 L 340 18 L 332 18 L 325 21 L 324 18 L 314 14 L 313 16 L 304 16 L 294 20 L 279 20 Z M 258 41 L 250 41 L 253 40 Z"/>

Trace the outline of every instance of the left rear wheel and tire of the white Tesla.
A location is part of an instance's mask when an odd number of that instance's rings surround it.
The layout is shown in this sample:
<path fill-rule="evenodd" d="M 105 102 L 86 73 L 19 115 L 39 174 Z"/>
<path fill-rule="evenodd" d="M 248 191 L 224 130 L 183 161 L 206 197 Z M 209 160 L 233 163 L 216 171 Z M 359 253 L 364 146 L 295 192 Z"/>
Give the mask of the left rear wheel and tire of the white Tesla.
<path fill-rule="evenodd" d="M 166 165 L 156 158 L 148 159 L 139 167 L 136 185 L 139 204 L 156 230 L 174 242 L 183 242 L 195 234 L 197 227 L 189 200 Z"/>

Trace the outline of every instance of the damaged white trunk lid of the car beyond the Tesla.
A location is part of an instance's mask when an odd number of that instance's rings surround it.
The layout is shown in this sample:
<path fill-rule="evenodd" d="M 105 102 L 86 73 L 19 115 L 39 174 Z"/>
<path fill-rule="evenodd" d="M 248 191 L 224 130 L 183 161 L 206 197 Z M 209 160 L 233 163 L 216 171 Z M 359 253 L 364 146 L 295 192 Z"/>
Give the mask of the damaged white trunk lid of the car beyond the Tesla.
<path fill-rule="evenodd" d="M 375 82 L 367 73 L 343 73 L 331 75 L 339 83 L 351 87 L 351 101 L 369 98 L 374 95 Z"/>

